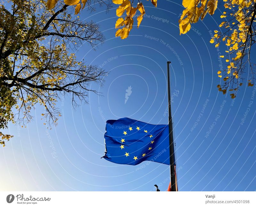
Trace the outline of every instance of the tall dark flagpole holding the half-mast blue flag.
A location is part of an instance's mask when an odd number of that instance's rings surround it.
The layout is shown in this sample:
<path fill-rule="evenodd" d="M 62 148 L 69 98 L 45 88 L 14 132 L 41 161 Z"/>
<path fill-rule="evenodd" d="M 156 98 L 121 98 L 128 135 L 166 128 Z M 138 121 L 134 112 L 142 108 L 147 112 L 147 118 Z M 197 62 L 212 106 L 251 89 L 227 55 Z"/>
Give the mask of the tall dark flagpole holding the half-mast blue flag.
<path fill-rule="evenodd" d="M 174 154 L 174 142 L 173 142 L 173 129 L 172 129 L 172 110 L 171 110 L 171 89 L 170 89 L 170 69 L 167 62 L 167 78 L 168 78 L 168 111 L 169 111 L 169 149 L 170 149 L 170 178 L 171 178 L 171 189 L 177 191 L 176 184 L 176 173 L 175 173 L 175 154 Z"/>

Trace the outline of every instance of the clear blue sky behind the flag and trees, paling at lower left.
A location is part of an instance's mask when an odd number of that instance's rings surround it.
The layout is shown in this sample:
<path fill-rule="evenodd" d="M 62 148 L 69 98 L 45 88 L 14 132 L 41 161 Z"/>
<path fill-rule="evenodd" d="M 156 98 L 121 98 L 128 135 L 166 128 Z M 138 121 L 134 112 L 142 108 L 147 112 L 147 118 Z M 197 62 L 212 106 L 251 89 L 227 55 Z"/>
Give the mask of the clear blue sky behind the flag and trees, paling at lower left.
<path fill-rule="evenodd" d="M 225 59 L 218 57 L 226 55 L 226 48 L 220 45 L 219 53 L 209 41 L 221 22 L 220 11 L 179 35 L 181 2 L 159 1 L 154 8 L 143 1 L 148 16 L 125 40 L 115 38 L 117 5 L 108 13 L 102 7 L 79 14 L 98 22 L 106 37 L 96 51 L 87 44 L 76 51 L 78 59 L 109 71 L 103 87 L 90 86 L 102 96 L 90 93 L 89 104 L 76 109 L 70 97 L 62 97 L 62 117 L 51 130 L 43 125 L 40 106 L 26 128 L 10 124 L 5 132 L 14 137 L 0 149 L 1 190 L 153 191 L 154 184 L 166 190 L 168 165 L 119 165 L 100 158 L 106 120 L 168 123 L 166 62 L 171 61 L 179 190 L 255 191 L 256 100 L 251 96 L 256 88 L 244 84 L 235 100 L 218 92 L 217 71 L 226 67 Z M 129 86 L 132 93 L 125 103 Z"/>

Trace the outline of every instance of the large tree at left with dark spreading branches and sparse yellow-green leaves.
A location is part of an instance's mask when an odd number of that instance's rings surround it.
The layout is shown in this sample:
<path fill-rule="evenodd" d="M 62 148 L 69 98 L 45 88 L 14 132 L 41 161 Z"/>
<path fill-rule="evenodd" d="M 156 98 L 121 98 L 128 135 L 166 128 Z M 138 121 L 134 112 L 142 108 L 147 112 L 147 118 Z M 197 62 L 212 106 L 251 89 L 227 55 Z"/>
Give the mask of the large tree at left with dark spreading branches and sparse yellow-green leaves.
<path fill-rule="evenodd" d="M 61 95 L 70 93 L 73 106 L 86 102 L 91 82 L 102 83 L 106 74 L 95 65 L 78 61 L 76 49 L 88 42 L 94 47 L 104 41 L 99 25 L 74 16 L 91 3 L 101 0 L 8 0 L 0 13 L 0 129 L 8 122 L 22 124 L 32 119 L 36 104 L 45 108 L 47 124 L 57 123 L 55 106 Z M 78 5 L 80 4 L 80 6 Z M 75 11 L 74 7 L 75 6 Z M 12 135 L 0 132 L 0 144 Z"/>

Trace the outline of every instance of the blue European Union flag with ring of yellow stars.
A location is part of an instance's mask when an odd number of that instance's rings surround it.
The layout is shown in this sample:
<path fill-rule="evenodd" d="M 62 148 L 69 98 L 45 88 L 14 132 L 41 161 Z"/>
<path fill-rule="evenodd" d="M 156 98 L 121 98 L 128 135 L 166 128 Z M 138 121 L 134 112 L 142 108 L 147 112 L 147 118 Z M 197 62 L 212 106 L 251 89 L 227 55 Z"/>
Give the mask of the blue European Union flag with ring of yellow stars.
<path fill-rule="evenodd" d="M 108 120 L 105 156 L 110 162 L 138 165 L 148 160 L 170 165 L 168 125 L 153 125 L 130 118 Z"/>

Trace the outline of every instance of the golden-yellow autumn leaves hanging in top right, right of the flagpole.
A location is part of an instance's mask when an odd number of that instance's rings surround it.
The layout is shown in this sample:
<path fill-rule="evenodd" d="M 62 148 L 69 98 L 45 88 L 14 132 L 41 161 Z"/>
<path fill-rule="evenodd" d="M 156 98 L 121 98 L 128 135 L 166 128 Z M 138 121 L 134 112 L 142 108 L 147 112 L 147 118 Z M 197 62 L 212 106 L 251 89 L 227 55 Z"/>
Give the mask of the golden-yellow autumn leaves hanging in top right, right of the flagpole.
<path fill-rule="evenodd" d="M 255 0 L 223 0 L 225 11 L 220 18 L 223 18 L 219 29 L 214 30 L 214 35 L 210 40 L 218 48 L 221 42 L 227 46 L 225 52 L 227 68 L 219 70 L 217 75 L 223 78 L 223 83 L 217 85 L 219 91 L 226 94 L 230 92 L 232 99 L 236 97 L 236 92 L 243 85 L 246 69 L 249 69 L 249 80 L 245 80 L 248 86 L 254 85 L 255 63 L 251 56 L 251 48 L 255 43 Z M 187 33 L 190 23 L 195 23 L 205 13 L 214 14 L 217 8 L 217 0 L 183 0 L 186 8 L 180 18 L 180 33 Z M 184 15 L 186 18 L 184 18 Z M 220 30 L 220 31 L 219 31 Z M 224 58 L 224 55 L 220 55 Z"/>

